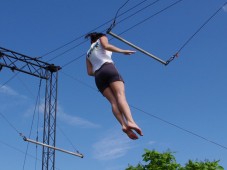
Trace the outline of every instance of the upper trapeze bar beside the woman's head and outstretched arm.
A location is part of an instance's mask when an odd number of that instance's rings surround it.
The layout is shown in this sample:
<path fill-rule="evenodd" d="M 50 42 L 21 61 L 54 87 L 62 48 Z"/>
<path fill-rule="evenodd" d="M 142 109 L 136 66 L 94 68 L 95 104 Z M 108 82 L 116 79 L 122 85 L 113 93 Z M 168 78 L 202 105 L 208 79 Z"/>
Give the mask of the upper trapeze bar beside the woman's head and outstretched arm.
<path fill-rule="evenodd" d="M 164 65 L 167 65 L 167 63 L 166 63 L 165 61 L 163 61 L 163 60 L 161 60 L 160 58 L 156 57 L 155 55 L 153 55 L 153 54 L 151 54 L 151 53 L 149 53 L 149 52 L 143 50 L 142 48 L 137 47 L 136 45 L 134 45 L 134 44 L 128 42 L 127 40 L 125 40 L 125 39 L 119 37 L 118 35 L 114 34 L 113 32 L 108 31 L 107 33 L 110 34 L 110 35 L 112 35 L 113 37 L 117 38 L 118 40 L 120 40 L 120 41 L 122 41 L 122 42 L 128 44 L 129 46 L 131 46 L 131 47 L 137 49 L 138 51 L 140 51 L 140 52 L 142 52 L 142 53 L 148 55 L 149 57 L 152 57 L 153 59 L 159 61 L 160 63 L 162 63 L 162 64 L 164 64 Z"/>

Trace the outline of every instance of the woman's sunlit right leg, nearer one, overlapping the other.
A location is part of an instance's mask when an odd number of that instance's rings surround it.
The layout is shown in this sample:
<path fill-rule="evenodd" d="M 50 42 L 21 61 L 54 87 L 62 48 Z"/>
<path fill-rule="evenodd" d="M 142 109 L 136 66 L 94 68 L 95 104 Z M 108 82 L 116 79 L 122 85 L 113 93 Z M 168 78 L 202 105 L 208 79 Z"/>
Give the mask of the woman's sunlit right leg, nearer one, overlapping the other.
<path fill-rule="evenodd" d="M 111 91 L 115 96 L 118 108 L 121 113 L 124 114 L 125 119 L 127 120 L 127 127 L 129 129 L 135 130 L 139 135 L 143 135 L 141 129 L 135 123 L 132 118 L 132 114 L 128 105 L 128 102 L 125 97 L 125 87 L 122 81 L 115 81 L 110 84 Z"/>

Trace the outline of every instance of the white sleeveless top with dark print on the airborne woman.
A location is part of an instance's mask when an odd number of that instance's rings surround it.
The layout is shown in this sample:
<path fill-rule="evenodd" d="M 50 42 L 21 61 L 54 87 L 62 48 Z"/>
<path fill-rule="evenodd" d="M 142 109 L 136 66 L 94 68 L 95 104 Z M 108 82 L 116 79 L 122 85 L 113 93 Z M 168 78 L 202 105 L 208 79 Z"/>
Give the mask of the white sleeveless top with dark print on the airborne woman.
<path fill-rule="evenodd" d="M 99 39 L 91 44 L 87 52 L 87 59 L 92 64 L 93 72 L 98 70 L 104 63 L 113 63 L 111 56 L 112 52 L 105 50 Z"/>

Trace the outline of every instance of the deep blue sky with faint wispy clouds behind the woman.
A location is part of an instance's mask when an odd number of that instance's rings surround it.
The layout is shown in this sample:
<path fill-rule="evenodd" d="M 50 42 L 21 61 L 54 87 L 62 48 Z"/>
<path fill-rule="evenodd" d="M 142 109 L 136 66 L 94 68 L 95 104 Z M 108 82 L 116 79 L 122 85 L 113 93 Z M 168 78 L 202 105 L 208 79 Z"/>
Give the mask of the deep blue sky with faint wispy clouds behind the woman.
<path fill-rule="evenodd" d="M 97 92 L 93 78 L 86 74 L 85 56 L 81 56 L 89 48 L 89 42 L 75 47 L 84 42 L 83 38 L 75 40 L 77 37 L 111 20 L 124 2 L 1 1 L 0 46 L 31 57 L 42 56 L 43 61 L 64 66 L 59 72 L 56 145 L 70 151 L 79 150 L 85 157 L 56 152 L 57 169 L 122 170 L 128 164 L 141 162 L 145 148 L 160 152 L 170 149 L 182 165 L 189 159 L 220 159 L 226 169 L 227 7 L 223 7 L 168 66 L 140 52 L 131 56 L 113 55 L 125 80 L 133 117 L 144 133 L 139 140 L 131 141 L 121 131 L 109 103 Z M 129 1 L 120 13 L 139 2 L 142 0 Z M 119 17 L 117 22 L 152 2 L 147 0 Z M 176 1 L 160 0 L 120 22 L 113 32 L 120 34 L 173 2 Z M 122 37 L 167 60 L 224 3 L 225 0 L 184 0 Z M 96 31 L 104 31 L 109 26 L 110 23 L 105 24 Z M 45 55 L 72 40 L 75 41 Z M 111 39 L 111 43 L 131 49 L 116 39 Z M 10 80 L 16 72 L 7 68 L 0 73 L 1 114 L 26 136 L 34 115 L 31 138 L 35 139 L 38 131 L 41 141 L 45 81 L 41 86 L 40 112 L 34 114 L 39 79 L 20 73 Z M 0 129 L 1 168 L 41 169 L 40 147 L 36 149 L 29 144 L 25 159 L 27 143 L 2 117 Z"/>

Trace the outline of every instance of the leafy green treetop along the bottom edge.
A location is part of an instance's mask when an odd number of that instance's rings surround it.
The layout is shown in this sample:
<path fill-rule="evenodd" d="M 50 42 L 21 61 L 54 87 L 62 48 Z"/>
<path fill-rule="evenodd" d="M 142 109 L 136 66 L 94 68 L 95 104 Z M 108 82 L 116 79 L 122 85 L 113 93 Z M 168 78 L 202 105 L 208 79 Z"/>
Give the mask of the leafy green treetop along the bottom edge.
<path fill-rule="evenodd" d="M 141 163 L 135 167 L 130 165 L 126 170 L 224 170 L 219 165 L 219 161 L 210 162 L 208 160 L 204 162 L 189 160 L 185 167 L 182 167 L 176 162 L 173 152 L 170 151 L 159 153 L 155 150 L 145 149 L 142 157 L 145 165 Z"/>

